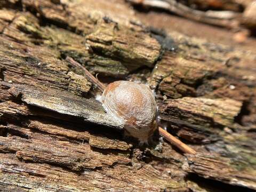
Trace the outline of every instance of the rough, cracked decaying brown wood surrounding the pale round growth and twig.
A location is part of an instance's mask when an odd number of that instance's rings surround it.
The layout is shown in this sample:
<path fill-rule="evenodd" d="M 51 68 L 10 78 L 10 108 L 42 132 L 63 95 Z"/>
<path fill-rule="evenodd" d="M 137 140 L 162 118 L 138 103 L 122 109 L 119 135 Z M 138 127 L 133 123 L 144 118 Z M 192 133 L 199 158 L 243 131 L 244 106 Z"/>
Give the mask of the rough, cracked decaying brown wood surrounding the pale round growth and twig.
<path fill-rule="evenodd" d="M 0 5 L 1 191 L 256 189 L 253 51 L 146 28 L 122 1 Z M 199 153 L 124 138 L 66 57 L 107 81 L 152 70 L 161 123 Z"/>

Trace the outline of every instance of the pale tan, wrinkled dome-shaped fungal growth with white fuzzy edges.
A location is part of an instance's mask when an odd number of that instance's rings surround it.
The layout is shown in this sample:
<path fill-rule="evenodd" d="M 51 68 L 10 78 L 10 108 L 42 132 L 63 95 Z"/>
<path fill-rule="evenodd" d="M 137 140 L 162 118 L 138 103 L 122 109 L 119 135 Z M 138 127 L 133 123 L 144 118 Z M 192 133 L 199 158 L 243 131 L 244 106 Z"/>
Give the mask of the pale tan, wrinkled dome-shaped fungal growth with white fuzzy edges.
<path fill-rule="evenodd" d="M 140 142 L 147 142 L 156 129 L 156 101 L 148 86 L 116 81 L 101 96 L 107 113 L 124 123 L 125 132 Z"/>

